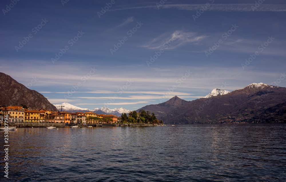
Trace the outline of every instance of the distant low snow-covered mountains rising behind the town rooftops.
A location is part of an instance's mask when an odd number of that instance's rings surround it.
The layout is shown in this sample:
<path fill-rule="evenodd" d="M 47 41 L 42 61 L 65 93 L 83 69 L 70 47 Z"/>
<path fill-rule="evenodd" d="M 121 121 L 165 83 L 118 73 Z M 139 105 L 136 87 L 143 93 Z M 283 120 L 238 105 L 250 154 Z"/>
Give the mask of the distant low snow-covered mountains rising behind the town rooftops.
<path fill-rule="evenodd" d="M 106 107 L 102 107 L 101 109 L 96 108 L 96 109 L 87 109 L 87 108 L 80 108 L 80 107 L 76 107 L 74 105 L 71 105 L 69 103 L 62 103 L 62 104 L 55 104 L 54 105 L 59 111 L 61 111 L 61 106 L 62 107 L 62 111 L 66 111 L 66 112 L 70 112 L 70 113 L 74 113 L 74 112 L 94 112 L 97 114 L 113 114 L 116 116 L 121 116 L 122 113 L 129 113 L 130 110 L 128 109 L 124 109 L 123 107 L 117 109 L 108 109 Z"/>

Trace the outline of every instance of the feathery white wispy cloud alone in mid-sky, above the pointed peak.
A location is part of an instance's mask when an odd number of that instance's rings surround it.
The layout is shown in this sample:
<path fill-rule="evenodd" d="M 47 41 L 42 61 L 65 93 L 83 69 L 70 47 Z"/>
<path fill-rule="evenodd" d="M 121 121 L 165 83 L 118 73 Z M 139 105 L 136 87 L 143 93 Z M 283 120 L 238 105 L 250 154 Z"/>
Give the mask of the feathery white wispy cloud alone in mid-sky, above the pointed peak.
<path fill-rule="evenodd" d="M 187 43 L 198 44 L 200 40 L 206 37 L 205 35 L 198 35 L 196 32 L 176 30 L 172 33 L 164 33 L 142 47 L 147 49 L 175 49 Z"/>

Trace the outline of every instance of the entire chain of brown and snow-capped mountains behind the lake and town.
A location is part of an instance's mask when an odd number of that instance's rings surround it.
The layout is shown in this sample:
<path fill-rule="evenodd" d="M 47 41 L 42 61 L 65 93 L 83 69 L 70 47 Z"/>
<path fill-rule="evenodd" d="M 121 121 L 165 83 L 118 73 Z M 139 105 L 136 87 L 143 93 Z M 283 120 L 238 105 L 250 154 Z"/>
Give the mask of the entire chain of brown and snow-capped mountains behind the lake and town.
<path fill-rule="evenodd" d="M 25 87 L 9 75 L 0 72 L 0 105 L 26 105 L 29 109 L 48 109 L 51 111 L 95 112 L 121 116 L 129 113 L 124 108 L 93 110 L 80 108 L 69 103 L 52 105 L 47 98 L 35 90 Z M 64 106 L 64 107 L 61 107 Z M 144 109 L 154 113 L 164 123 L 213 123 L 213 122 L 285 122 L 286 88 L 264 83 L 252 83 L 232 92 L 213 89 L 207 96 L 193 101 L 185 101 L 175 96 L 170 100 L 146 105 Z"/>

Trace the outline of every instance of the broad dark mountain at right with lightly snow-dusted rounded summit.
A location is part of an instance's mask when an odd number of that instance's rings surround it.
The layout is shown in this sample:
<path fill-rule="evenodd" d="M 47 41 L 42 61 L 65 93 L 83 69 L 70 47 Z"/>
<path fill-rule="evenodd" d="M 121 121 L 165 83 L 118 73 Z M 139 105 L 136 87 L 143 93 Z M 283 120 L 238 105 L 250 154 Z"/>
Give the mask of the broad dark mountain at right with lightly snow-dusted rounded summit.
<path fill-rule="evenodd" d="M 286 88 L 252 83 L 225 95 L 190 101 L 160 119 L 164 123 L 184 124 L 268 122 L 269 118 L 271 121 L 285 121 L 285 101 Z"/>

